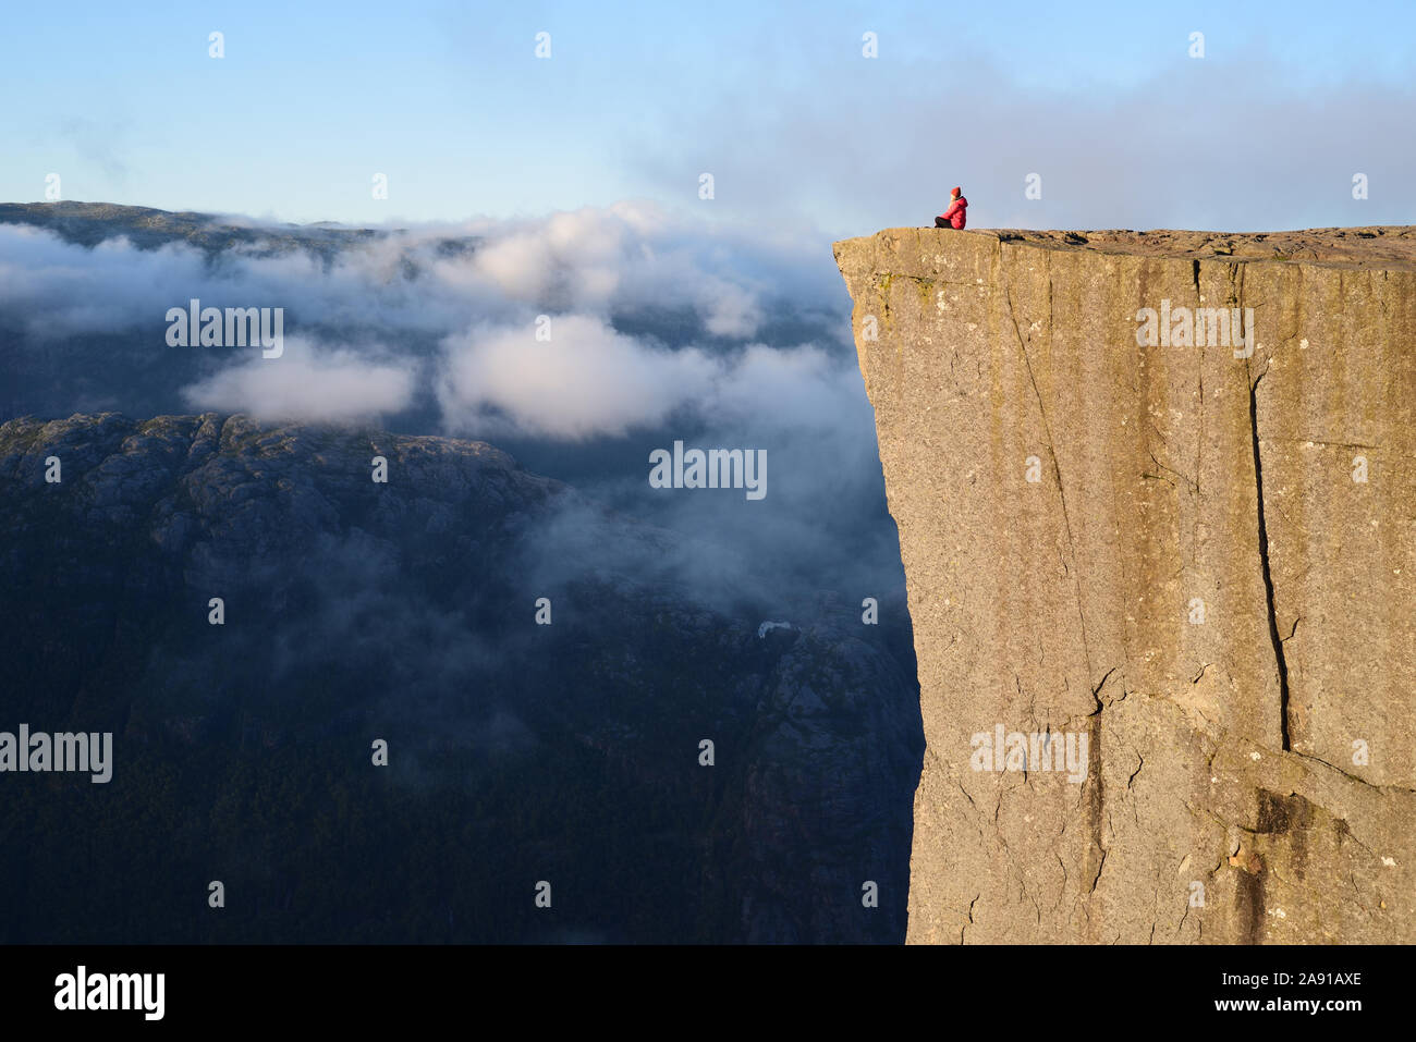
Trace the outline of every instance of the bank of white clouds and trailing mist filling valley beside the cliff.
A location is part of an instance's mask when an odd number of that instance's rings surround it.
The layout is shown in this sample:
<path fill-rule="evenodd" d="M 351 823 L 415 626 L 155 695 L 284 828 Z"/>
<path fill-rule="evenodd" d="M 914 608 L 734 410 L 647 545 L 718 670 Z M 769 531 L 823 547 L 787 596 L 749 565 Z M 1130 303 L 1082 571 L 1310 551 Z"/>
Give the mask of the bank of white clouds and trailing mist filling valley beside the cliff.
<path fill-rule="evenodd" d="M 882 596 L 901 582 L 850 300 L 816 236 L 643 202 L 389 229 L 331 256 L 259 242 L 215 256 L 126 239 L 85 249 L 0 225 L 0 328 L 21 330 L 0 337 L 24 362 L 17 413 L 101 399 L 139 416 L 484 437 L 675 537 L 616 542 L 622 521 L 566 505 L 527 573 L 657 569 L 724 609 L 782 612 L 792 592 Z M 191 297 L 283 307 L 283 355 L 167 347 L 166 311 Z M 541 316 L 549 340 L 535 336 Z M 766 498 L 650 488 L 649 454 L 674 440 L 766 452 Z"/>

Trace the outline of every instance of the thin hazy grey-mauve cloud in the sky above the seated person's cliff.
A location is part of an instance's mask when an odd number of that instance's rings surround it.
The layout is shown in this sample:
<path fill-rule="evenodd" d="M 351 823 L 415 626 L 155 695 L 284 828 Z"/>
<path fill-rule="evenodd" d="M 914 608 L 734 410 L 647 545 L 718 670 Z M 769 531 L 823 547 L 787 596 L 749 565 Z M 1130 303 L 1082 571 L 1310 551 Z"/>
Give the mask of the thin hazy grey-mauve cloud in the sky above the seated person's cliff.
<path fill-rule="evenodd" d="M 725 218 L 830 215 L 831 238 L 930 224 L 954 184 L 981 228 L 1408 222 L 1416 91 L 1358 78 L 1297 89 L 1307 72 L 1259 51 L 1225 61 L 1177 48 L 1144 81 L 1058 89 L 966 47 L 918 61 L 844 54 L 750 103 L 722 92 L 666 110 L 627 154 L 666 195 L 685 167 L 712 170 Z M 691 142 L 673 133 L 685 125 Z M 1039 200 L 1024 195 L 1034 173 Z M 1355 173 L 1371 177 L 1366 201 L 1351 197 Z"/>

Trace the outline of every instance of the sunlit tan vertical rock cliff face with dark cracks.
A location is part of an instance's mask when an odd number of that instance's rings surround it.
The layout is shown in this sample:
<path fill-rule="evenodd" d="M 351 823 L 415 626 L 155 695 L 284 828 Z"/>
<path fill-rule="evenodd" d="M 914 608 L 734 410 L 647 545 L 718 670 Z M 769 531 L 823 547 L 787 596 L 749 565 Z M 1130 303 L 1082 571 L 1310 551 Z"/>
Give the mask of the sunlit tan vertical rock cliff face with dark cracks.
<path fill-rule="evenodd" d="M 835 256 L 919 661 L 908 939 L 1416 940 L 1416 229 Z"/>

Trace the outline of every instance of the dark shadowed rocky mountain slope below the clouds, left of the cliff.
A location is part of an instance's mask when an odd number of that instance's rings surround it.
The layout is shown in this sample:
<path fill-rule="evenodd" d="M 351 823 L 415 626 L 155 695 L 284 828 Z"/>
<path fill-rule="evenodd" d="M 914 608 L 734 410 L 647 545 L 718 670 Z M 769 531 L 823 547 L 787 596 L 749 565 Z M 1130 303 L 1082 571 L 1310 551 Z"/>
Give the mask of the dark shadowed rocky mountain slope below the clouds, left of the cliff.
<path fill-rule="evenodd" d="M 214 413 L 0 425 L 0 729 L 115 732 L 0 779 L 0 940 L 903 934 L 913 657 L 850 597 L 759 636 L 491 446 Z"/>

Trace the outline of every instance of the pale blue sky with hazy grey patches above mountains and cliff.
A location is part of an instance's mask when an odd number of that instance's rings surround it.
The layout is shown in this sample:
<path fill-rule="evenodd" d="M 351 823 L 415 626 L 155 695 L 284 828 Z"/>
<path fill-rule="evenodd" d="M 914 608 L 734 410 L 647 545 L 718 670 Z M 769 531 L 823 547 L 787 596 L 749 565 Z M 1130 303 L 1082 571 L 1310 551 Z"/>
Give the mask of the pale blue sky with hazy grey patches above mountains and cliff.
<path fill-rule="evenodd" d="M 963 184 L 976 225 L 1409 224 L 1413 41 L 1412 3 L 11 4 L 0 200 L 848 235 Z"/>

